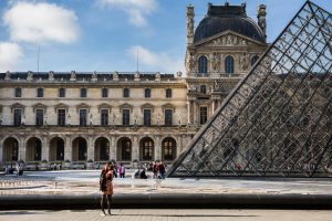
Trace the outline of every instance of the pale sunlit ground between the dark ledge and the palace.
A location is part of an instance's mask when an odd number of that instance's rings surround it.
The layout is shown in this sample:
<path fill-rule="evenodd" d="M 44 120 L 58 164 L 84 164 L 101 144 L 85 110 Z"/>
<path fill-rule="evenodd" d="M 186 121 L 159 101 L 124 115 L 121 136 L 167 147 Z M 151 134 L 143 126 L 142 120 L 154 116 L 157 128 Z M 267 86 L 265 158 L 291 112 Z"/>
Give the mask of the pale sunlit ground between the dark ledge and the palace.
<path fill-rule="evenodd" d="M 1 194 L 92 194 L 98 192 L 98 170 L 32 171 L 1 176 Z M 114 179 L 116 193 L 246 193 L 332 194 L 332 178 L 325 179 Z"/>

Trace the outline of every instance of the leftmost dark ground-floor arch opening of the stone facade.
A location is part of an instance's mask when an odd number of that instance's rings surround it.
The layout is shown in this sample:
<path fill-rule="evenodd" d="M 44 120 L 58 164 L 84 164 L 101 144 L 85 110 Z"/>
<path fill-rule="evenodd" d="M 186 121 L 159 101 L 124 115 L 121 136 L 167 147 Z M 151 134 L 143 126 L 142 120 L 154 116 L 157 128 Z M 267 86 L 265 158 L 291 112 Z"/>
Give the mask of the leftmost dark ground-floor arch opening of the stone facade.
<path fill-rule="evenodd" d="M 8 136 L 2 141 L 2 162 L 13 162 L 19 160 L 19 139 Z"/>

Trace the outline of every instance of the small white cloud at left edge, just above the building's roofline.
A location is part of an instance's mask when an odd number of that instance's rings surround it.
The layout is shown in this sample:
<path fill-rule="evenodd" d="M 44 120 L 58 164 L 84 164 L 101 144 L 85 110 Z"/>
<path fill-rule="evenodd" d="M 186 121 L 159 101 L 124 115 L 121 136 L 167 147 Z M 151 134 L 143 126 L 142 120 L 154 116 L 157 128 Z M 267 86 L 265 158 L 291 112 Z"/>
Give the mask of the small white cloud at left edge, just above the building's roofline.
<path fill-rule="evenodd" d="M 15 71 L 23 53 L 17 43 L 0 42 L 0 72 Z"/>

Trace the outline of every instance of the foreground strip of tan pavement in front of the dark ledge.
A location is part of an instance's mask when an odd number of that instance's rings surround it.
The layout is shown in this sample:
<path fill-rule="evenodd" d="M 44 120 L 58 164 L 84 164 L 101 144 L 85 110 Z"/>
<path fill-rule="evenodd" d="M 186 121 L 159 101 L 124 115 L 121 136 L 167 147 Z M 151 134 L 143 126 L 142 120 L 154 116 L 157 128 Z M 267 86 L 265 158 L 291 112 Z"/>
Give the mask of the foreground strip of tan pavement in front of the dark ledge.
<path fill-rule="evenodd" d="M 331 221 L 331 210 L 113 210 L 112 215 L 101 215 L 100 210 L 20 210 L 0 211 L 1 221 L 84 221 L 84 220 L 125 220 L 125 221 Z"/>

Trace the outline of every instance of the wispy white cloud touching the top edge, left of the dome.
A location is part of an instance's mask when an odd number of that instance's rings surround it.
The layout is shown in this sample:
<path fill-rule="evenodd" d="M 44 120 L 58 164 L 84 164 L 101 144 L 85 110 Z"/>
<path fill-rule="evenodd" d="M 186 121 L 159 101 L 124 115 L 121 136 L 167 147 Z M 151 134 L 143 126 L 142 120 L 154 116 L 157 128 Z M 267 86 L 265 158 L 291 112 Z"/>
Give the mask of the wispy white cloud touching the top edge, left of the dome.
<path fill-rule="evenodd" d="M 156 10 L 156 0 L 97 0 L 101 7 L 114 7 L 123 10 L 135 27 L 147 24 L 146 15 Z"/>

